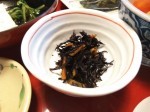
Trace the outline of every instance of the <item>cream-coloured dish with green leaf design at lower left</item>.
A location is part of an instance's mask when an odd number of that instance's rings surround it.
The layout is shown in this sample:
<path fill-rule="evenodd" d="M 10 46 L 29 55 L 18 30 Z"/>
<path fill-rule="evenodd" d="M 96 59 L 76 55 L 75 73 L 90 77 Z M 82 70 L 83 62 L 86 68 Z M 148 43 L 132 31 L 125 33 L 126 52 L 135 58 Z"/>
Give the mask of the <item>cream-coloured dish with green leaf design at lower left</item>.
<path fill-rule="evenodd" d="M 18 62 L 0 57 L 0 112 L 28 112 L 31 83 Z"/>

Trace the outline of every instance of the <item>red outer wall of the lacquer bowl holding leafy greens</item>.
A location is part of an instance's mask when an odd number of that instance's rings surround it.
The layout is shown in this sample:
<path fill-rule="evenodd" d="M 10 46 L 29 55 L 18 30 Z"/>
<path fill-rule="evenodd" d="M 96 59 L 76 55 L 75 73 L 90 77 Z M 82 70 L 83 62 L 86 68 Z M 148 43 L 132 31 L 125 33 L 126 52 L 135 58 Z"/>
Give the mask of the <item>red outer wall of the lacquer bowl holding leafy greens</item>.
<path fill-rule="evenodd" d="M 30 28 L 30 26 L 32 26 L 41 17 L 55 11 L 58 5 L 58 0 L 50 0 L 48 3 L 50 4 L 50 7 L 37 18 L 25 24 L 0 32 L 0 48 L 9 47 L 11 45 L 21 43 L 24 34 Z"/>

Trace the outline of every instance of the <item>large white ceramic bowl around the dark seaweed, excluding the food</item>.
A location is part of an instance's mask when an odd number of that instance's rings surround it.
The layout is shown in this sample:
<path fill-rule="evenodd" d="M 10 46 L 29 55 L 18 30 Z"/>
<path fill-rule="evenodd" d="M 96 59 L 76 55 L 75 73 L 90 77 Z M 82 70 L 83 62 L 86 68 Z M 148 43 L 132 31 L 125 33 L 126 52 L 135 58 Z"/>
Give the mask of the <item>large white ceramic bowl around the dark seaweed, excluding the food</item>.
<path fill-rule="evenodd" d="M 73 30 L 97 34 L 107 50 L 107 61 L 113 66 L 102 76 L 96 88 L 80 88 L 58 80 L 51 73 L 57 56 L 52 56 L 59 43 L 69 39 Z M 25 66 L 39 80 L 50 87 L 71 96 L 101 96 L 125 87 L 136 76 L 142 57 L 137 34 L 121 19 L 90 9 L 62 10 L 43 17 L 25 34 L 21 45 Z"/>

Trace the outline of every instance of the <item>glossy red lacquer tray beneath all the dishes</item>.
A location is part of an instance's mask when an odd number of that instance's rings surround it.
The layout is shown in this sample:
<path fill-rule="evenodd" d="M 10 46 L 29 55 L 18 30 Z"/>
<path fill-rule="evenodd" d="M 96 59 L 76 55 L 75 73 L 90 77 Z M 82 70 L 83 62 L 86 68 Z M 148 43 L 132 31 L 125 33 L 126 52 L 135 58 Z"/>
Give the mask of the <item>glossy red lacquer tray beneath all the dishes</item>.
<path fill-rule="evenodd" d="M 59 2 L 56 11 L 64 8 Z M 0 56 L 23 65 L 20 44 L 0 49 Z M 136 78 L 122 90 L 93 98 L 67 96 L 48 87 L 30 73 L 29 77 L 32 84 L 29 112 L 132 112 L 141 100 L 150 96 L 150 68 L 145 66 L 141 66 Z"/>

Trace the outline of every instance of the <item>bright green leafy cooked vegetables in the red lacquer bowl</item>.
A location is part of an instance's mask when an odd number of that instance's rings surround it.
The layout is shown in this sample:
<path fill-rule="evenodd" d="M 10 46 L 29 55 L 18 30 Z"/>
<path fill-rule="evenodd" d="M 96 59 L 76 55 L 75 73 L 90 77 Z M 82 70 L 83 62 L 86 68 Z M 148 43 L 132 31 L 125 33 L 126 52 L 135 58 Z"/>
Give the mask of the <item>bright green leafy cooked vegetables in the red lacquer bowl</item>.
<path fill-rule="evenodd" d="M 43 9 L 45 5 L 41 5 L 37 8 L 30 7 L 25 0 L 18 0 L 17 4 L 14 8 L 10 9 L 8 13 L 14 20 L 17 25 L 26 23 L 34 18 L 36 18 L 41 9 Z"/>

